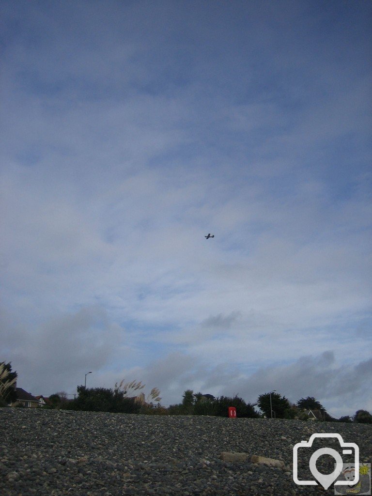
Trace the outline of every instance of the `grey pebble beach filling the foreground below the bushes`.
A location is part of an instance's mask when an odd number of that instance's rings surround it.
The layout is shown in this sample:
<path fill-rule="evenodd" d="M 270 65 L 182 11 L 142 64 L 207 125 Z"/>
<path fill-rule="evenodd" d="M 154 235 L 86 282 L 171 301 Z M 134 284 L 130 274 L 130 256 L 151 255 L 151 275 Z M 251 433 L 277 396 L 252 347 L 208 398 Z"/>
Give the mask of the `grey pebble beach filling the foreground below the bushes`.
<path fill-rule="evenodd" d="M 372 461 L 368 425 L 1 408 L 0 495 L 330 495 L 333 486 L 292 479 L 293 445 L 315 432 L 341 434 Z M 248 460 L 222 461 L 222 451 Z M 313 479 L 312 452 L 299 458 L 300 478 Z M 250 463 L 253 454 L 285 467 Z M 329 462 L 323 456 L 317 468 L 329 473 Z"/>

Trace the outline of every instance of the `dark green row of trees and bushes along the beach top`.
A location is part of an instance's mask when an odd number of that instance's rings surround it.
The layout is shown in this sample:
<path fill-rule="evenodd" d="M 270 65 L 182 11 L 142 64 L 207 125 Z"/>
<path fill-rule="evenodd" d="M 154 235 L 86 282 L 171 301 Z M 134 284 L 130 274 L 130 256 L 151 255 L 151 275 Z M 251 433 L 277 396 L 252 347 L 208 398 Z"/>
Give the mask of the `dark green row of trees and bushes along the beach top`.
<path fill-rule="evenodd" d="M 12 372 L 10 363 L 0 362 L 0 406 L 7 406 L 16 399 L 14 384 L 17 372 Z M 366 410 L 358 410 L 353 417 L 344 416 L 335 419 L 314 397 L 301 398 L 291 403 L 288 398 L 276 391 L 260 394 L 256 403 L 246 402 L 238 395 L 233 397 L 220 396 L 215 398 L 211 394 L 194 393 L 187 389 L 182 402 L 170 405 L 168 408 L 153 408 L 152 402 L 160 404 L 160 391 L 154 387 L 145 397 L 145 387 L 141 381 L 135 380 L 120 384 L 114 388 L 86 388 L 77 387 L 77 397 L 67 399 L 64 392 L 52 394 L 49 402 L 43 408 L 82 410 L 92 412 L 131 413 L 148 415 L 210 415 L 227 417 L 228 408 L 235 407 L 238 418 L 273 418 L 308 420 L 309 411 L 317 414 L 317 420 L 325 422 L 358 422 L 372 424 L 372 415 Z"/>

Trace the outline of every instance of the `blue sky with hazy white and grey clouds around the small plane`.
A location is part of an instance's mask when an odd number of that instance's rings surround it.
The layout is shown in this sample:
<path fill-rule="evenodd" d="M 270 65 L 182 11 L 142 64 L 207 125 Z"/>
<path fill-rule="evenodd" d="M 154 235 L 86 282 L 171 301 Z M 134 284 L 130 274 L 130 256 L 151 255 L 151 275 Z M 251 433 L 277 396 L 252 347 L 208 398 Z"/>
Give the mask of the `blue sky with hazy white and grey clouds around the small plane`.
<path fill-rule="evenodd" d="M 372 412 L 371 14 L 1 1 L 0 361 L 19 387 L 72 395 L 92 372 L 165 405 L 276 390 Z"/>

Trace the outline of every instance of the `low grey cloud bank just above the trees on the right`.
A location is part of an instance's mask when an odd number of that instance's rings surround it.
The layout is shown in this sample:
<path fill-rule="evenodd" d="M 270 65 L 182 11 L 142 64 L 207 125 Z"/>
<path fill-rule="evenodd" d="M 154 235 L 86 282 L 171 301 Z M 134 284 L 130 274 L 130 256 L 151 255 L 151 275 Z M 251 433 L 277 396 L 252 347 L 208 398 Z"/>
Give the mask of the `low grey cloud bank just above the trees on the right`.
<path fill-rule="evenodd" d="M 172 352 L 146 367 L 124 370 L 120 376 L 128 380 L 143 379 L 146 390 L 159 387 L 163 404 L 180 403 L 186 389 L 215 396 L 238 394 L 251 403 L 255 403 L 260 394 L 275 389 L 291 402 L 314 396 L 337 418 L 352 416 L 359 409 L 371 410 L 371 359 L 352 365 L 343 358 L 326 351 L 301 356 L 289 364 L 242 370 L 233 361 L 216 363 L 207 354 L 196 358 Z"/>

